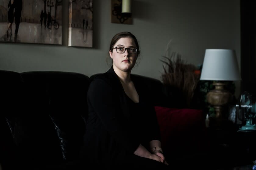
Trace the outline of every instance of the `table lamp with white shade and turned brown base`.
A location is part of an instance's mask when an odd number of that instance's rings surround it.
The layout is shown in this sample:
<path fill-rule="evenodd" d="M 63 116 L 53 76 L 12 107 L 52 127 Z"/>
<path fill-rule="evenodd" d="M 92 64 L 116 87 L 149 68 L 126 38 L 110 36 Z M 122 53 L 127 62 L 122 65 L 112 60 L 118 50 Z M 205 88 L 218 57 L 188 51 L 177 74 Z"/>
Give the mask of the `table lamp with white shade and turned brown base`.
<path fill-rule="evenodd" d="M 206 49 L 200 80 L 215 81 L 215 89 L 208 92 L 206 99 L 215 108 L 216 118 L 222 119 L 222 112 L 232 97 L 224 88 L 225 82 L 241 80 L 235 50 Z"/>

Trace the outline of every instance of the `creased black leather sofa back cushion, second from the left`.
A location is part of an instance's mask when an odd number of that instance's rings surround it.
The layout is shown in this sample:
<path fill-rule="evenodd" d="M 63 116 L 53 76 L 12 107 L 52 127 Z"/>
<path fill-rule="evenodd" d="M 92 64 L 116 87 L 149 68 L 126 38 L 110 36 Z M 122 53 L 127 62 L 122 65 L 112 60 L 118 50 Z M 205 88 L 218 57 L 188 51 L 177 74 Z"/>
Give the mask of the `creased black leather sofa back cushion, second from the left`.
<path fill-rule="evenodd" d="M 51 126 L 51 132 L 57 136 L 60 148 L 56 146 L 51 150 L 57 152 L 60 149 L 64 161 L 77 159 L 85 131 L 89 77 L 58 71 L 24 72 L 21 75 L 29 89 L 31 109 L 37 115 L 44 115 L 47 120 L 42 123 Z M 37 135 L 54 146 L 53 137 Z"/>

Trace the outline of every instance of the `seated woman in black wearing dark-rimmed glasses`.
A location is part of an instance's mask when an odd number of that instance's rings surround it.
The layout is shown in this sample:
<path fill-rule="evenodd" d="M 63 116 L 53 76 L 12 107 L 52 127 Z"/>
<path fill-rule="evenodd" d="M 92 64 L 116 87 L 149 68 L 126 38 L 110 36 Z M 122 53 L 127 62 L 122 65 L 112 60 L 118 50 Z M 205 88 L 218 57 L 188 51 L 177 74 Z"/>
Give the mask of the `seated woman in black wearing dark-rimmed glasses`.
<path fill-rule="evenodd" d="M 94 166 L 168 167 L 155 110 L 147 100 L 149 92 L 131 74 L 139 53 L 133 34 L 116 34 L 109 47 L 112 67 L 95 77 L 88 89 L 82 158 Z"/>

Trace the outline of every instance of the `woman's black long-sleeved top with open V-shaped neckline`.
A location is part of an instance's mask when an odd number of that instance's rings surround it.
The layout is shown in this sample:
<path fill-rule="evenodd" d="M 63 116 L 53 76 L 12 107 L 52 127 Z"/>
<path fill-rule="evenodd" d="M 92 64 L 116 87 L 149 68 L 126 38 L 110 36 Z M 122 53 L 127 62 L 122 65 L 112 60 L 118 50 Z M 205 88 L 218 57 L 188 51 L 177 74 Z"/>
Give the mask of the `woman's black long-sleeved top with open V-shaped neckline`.
<path fill-rule="evenodd" d="M 152 140 L 160 140 L 154 106 L 148 101 L 150 91 L 142 80 L 131 74 L 139 94 L 134 103 L 111 67 L 94 78 L 87 92 L 88 119 L 82 157 L 94 163 L 111 164 L 129 156 L 139 144 L 147 148 Z"/>

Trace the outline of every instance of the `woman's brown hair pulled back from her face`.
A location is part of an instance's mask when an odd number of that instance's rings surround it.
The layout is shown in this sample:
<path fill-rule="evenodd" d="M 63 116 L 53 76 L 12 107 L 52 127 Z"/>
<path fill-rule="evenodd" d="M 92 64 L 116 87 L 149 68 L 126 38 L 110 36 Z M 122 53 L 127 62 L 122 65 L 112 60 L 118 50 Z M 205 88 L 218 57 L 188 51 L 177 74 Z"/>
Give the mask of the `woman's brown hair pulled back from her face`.
<path fill-rule="evenodd" d="M 140 56 L 140 47 L 139 47 L 139 43 L 137 41 L 137 38 L 131 33 L 131 32 L 119 32 L 117 33 L 115 36 L 113 36 L 111 42 L 110 42 L 110 46 L 109 46 L 109 51 L 113 52 L 113 48 L 114 45 L 116 44 L 116 42 L 120 39 L 120 38 L 125 38 L 125 37 L 130 37 L 133 39 L 133 41 L 135 42 L 136 48 L 137 48 L 137 57 Z M 108 51 L 108 53 L 109 53 Z"/>

